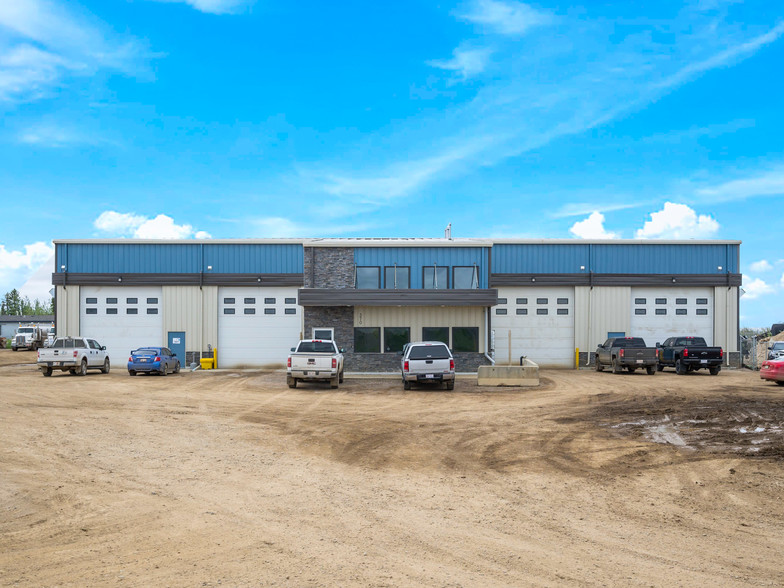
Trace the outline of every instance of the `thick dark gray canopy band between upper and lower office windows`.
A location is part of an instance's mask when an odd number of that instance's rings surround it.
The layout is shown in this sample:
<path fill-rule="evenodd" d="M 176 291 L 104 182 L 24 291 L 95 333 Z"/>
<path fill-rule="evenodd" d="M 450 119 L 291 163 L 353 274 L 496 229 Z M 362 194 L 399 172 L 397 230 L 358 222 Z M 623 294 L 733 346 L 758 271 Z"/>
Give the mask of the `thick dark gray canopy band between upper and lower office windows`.
<path fill-rule="evenodd" d="M 303 288 L 300 306 L 495 306 L 498 290 L 355 290 Z"/>

